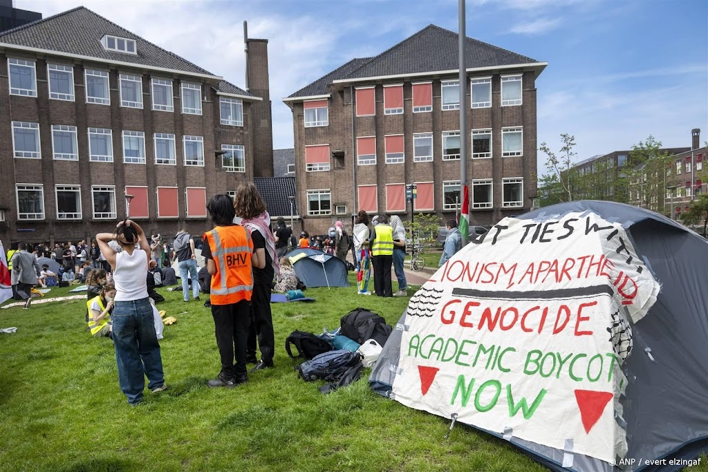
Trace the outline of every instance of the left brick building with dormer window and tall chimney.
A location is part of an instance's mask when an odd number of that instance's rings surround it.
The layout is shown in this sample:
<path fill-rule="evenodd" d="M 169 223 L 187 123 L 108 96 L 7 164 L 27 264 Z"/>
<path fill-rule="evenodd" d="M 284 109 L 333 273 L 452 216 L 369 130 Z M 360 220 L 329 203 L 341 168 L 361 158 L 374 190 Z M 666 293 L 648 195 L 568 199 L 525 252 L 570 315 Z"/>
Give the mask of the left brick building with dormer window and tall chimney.
<path fill-rule="evenodd" d="M 1 33 L 5 245 L 109 231 L 125 195 L 145 231 L 208 229 L 212 195 L 273 175 L 267 41 L 246 48 L 251 92 L 83 7 Z"/>

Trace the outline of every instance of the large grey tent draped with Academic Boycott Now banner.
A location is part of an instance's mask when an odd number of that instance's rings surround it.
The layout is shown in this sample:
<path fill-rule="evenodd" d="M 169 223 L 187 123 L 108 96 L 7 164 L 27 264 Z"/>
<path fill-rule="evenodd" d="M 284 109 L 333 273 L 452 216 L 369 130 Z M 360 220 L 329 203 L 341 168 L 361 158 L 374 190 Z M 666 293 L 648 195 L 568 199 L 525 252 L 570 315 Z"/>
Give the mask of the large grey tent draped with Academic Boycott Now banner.
<path fill-rule="evenodd" d="M 708 450 L 707 267 L 708 241 L 629 205 L 503 219 L 411 298 L 370 385 L 554 471 L 695 465 Z"/>

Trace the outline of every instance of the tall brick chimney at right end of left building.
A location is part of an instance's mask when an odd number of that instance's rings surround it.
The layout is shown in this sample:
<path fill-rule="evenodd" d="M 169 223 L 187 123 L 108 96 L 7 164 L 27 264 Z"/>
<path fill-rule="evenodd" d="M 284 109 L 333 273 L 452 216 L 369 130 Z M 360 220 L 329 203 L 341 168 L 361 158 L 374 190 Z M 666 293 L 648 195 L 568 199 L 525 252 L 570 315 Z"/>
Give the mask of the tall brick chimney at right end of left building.
<path fill-rule="evenodd" d="M 263 98 L 251 105 L 253 176 L 273 177 L 273 117 L 270 112 L 268 40 L 250 39 L 244 21 L 246 43 L 246 90 Z"/>

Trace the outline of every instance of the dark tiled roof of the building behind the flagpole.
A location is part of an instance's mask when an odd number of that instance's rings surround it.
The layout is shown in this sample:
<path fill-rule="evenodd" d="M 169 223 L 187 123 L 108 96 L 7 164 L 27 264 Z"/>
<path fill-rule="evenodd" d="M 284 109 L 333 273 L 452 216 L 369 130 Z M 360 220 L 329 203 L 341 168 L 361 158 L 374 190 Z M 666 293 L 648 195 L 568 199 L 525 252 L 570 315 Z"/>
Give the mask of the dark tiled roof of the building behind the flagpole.
<path fill-rule="evenodd" d="M 333 81 L 457 71 L 459 69 L 457 43 L 458 34 L 454 31 L 437 25 L 428 25 L 375 57 L 352 59 L 288 98 L 325 95 L 329 93 L 327 86 Z M 522 64 L 531 65 L 539 62 L 531 57 L 467 38 L 466 69 Z"/>

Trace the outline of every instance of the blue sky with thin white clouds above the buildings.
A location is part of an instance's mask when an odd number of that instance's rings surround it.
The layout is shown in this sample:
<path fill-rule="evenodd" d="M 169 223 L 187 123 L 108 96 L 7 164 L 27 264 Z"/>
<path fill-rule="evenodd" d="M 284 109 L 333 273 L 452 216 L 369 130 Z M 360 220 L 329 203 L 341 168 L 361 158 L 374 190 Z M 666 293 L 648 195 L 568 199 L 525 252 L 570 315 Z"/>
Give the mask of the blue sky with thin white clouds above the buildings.
<path fill-rule="evenodd" d="M 435 23 L 457 31 L 457 1 L 16 0 L 50 16 L 84 5 L 244 86 L 242 22 L 266 38 L 275 148 L 292 147 L 282 103 L 353 57 L 369 57 Z M 649 134 L 667 147 L 708 141 L 705 0 L 468 0 L 467 35 L 548 67 L 537 80 L 538 142 L 576 160 L 630 149 Z M 544 170 L 539 154 L 539 172 Z"/>

